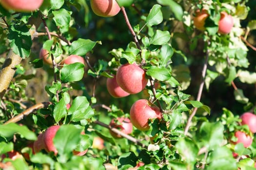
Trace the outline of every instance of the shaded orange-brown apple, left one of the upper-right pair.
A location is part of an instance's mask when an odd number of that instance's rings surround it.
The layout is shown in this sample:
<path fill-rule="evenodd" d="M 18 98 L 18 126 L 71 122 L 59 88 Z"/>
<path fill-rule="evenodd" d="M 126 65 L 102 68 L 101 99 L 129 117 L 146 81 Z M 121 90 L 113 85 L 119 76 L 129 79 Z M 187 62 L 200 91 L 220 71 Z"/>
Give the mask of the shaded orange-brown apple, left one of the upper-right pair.
<path fill-rule="evenodd" d="M 205 19 L 209 17 L 209 14 L 207 12 L 207 10 L 205 9 L 202 9 L 201 11 L 198 9 L 196 11 L 196 16 L 193 18 L 193 21 L 194 21 L 194 25 L 195 27 L 200 30 L 200 31 L 204 31 L 205 30 L 205 27 L 204 27 L 204 24 L 205 24 Z"/>

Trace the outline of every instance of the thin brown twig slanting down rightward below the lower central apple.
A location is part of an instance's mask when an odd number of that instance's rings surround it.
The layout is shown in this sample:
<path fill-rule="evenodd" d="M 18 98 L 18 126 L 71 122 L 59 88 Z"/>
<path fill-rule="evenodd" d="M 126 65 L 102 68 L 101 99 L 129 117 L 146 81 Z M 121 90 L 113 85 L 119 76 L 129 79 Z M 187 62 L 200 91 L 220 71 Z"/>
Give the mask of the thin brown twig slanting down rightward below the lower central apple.
<path fill-rule="evenodd" d="M 119 131 L 119 130 L 116 129 L 116 128 L 112 128 L 111 126 L 109 126 L 109 125 L 107 125 L 107 124 L 105 124 L 105 123 L 103 123 L 103 122 L 101 122 L 101 121 L 98 121 L 98 120 L 95 120 L 94 123 L 95 123 L 95 124 L 98 124 L 98 125 L 100 125 L 100 126 L 102 126 L 102 127 L 105 127 L 105 128 L 107 128 L 107 129 L 109 129 L 110 131 L 116 133 L 117 135 L 120 135 L 120 136 L 122 136 L 122 137 L 125 137 L 125 138 L 127 138 L 128 140 L 132 141 L 133 143 L 135 143 L 135 144 L 137 144 L 137 145 L 139 145 L 139 146 L 141 146 L 141 147 L 147 149 L 147 146 L 145 146 L 143 143 L 139 142 L 136 138 L 134 138 L 134 137 L 132 137 L 132 136 L 130 136 L 130 135 L 124 134 L 124 133 L 122 133 L 121 131 Z"/>

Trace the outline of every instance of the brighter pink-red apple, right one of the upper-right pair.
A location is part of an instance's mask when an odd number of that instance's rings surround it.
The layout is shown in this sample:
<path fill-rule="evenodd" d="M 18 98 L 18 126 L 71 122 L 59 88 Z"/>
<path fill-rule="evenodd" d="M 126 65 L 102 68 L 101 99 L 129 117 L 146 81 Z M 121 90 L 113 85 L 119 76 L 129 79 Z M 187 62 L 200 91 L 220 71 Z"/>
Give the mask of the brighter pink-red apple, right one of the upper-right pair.
<path fill-rule="evenodd" d="M 234 19 L 226 12 L 220 12 L 220 19 L 218 21 L 218 33 L 229 34 L 234 25 Z"/>

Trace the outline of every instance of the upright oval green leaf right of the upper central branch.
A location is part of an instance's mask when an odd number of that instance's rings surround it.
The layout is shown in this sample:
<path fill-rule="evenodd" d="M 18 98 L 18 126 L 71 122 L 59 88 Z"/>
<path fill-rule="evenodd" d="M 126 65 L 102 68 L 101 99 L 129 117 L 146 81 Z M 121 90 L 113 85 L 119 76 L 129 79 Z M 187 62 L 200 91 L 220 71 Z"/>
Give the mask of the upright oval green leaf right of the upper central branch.
<path fill-rule="evenodd" d="M 146 23 L 149 26 L 153 26 L 153 25 L 158 25 L 163 21 L 163 15 L 161 12 L 161 5 L 155 4 L 149 14 L 148 17 L 146 19 Z"/>

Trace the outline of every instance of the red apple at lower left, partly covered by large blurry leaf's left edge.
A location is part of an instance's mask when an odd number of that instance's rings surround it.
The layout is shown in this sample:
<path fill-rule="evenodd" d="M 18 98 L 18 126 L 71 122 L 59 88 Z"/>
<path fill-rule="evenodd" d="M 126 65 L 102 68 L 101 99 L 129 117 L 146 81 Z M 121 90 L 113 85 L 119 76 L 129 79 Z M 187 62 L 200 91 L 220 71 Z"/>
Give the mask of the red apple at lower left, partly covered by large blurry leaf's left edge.
<path fill-rule="evenodd" d="M 58 151 L 53 144 L 53 138 L 59 130 L 59 127 L 59 125 L 51 126 L 44 133 L 44 149 L 46 152 L 54 152 L 55 155 L 57 155 Z"/>

